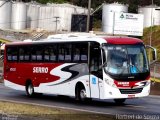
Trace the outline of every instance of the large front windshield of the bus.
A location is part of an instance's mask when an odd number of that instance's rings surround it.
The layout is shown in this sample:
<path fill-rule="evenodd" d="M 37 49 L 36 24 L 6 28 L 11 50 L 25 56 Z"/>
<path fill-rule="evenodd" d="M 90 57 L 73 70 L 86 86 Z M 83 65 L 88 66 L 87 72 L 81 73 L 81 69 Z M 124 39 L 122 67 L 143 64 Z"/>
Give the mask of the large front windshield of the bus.
<path fill-rule="evenodd" d="M 149 71 L 144 45 L 105 45 L 104 70 L 109 74 L 137 74 Z"/>

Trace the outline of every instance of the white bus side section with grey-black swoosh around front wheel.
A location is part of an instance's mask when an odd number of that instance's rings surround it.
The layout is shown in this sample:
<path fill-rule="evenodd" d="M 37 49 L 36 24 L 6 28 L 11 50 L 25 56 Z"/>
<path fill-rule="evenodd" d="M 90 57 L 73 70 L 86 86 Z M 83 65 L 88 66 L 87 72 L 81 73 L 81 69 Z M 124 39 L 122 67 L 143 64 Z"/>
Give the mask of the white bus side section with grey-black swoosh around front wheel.
<path fill-rule="evenodd" d="M 35 87 L 36 92 L 75 96 L 75 87 L 78 82 L 83 83 L 87 96 L 90 97 L 88 65 L 85 63 L 66 63 L 50 71 L 50 74 L 59 76 L 53 82 L 41 83 Z"/>

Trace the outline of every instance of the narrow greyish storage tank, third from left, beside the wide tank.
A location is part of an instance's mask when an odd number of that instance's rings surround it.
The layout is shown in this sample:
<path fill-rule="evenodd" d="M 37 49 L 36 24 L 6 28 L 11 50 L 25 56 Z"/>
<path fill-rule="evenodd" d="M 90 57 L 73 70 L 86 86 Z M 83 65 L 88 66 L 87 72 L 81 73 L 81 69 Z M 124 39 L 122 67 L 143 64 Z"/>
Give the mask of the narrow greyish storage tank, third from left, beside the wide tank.
<path fill-rule="evenodd" d="M 27 4 L 27 28 L 37 29 L 40 5 L 36 3 Z"/>

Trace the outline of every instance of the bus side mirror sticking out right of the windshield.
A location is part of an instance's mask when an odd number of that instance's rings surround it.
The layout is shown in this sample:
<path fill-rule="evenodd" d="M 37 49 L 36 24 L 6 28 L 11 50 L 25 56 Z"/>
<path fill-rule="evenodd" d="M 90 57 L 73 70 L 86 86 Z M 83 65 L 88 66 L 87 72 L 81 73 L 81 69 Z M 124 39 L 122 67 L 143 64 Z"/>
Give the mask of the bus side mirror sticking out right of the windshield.
<path fill-rule="evenodd" d="M 157 61 L 157 50 L 156 48 L 150 46 L 150 45 L 146 45 L 146 48 L 148 49 L 148 56 L 149 56 L 149 63 L 153 64 L 154 62 Z"/>

